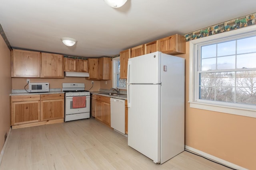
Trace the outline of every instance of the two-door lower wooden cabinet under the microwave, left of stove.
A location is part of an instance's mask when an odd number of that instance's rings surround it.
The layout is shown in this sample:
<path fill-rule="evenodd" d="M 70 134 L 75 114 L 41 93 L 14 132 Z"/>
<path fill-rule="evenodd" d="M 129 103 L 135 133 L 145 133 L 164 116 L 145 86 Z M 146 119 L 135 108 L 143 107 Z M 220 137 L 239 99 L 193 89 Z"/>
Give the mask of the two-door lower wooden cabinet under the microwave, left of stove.
<path fill-rule="evenodd" d="M 10 100 L 13 129 L 64 121 L 64 94 L 20 95 Z"/>

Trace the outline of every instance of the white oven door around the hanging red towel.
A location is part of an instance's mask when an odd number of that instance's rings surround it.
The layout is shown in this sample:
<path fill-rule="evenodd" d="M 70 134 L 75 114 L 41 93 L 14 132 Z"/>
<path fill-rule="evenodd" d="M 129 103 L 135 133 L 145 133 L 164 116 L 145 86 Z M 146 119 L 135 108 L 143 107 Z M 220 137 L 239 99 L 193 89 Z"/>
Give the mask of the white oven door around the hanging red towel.
<path fill-rule="evenodd" d="M 73 97 L 66 97 L 65 115 L 90 112 L 90 96 L 86 96 L 86 107 L 73 108 Z"/>

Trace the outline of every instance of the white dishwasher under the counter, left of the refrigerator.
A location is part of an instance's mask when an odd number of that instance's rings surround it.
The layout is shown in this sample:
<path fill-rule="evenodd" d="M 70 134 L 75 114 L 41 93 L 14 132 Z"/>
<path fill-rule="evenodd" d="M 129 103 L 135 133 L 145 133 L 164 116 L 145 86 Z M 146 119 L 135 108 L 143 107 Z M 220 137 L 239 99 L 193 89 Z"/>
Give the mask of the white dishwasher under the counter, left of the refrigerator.
<path fill-rule="evenodd" d="M 110 98 L 111 127 L 125 134 L 125 100 Z"/>

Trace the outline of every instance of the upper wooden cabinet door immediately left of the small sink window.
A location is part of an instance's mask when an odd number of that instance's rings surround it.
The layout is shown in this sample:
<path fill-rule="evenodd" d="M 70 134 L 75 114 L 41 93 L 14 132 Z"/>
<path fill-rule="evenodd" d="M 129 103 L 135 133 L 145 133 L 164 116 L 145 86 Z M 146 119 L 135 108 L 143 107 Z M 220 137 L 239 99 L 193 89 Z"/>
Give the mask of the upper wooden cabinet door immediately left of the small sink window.
<path fill-rule="evenodd" d="M 102 57 L 99 59 L 100 80 L 111 80 L 111 58 Z"/>

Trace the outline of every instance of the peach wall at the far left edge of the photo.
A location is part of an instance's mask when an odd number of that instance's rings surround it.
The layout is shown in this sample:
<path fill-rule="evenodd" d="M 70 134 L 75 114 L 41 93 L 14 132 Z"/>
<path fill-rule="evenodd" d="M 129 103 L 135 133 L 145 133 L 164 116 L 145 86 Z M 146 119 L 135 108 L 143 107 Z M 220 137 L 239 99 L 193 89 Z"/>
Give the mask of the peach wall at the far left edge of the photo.
<path fill-rule="evenodd" d="M 0 35 L 0 150 L 10 129 L 10 93 L 12 92 L 11 53 Z"/>

